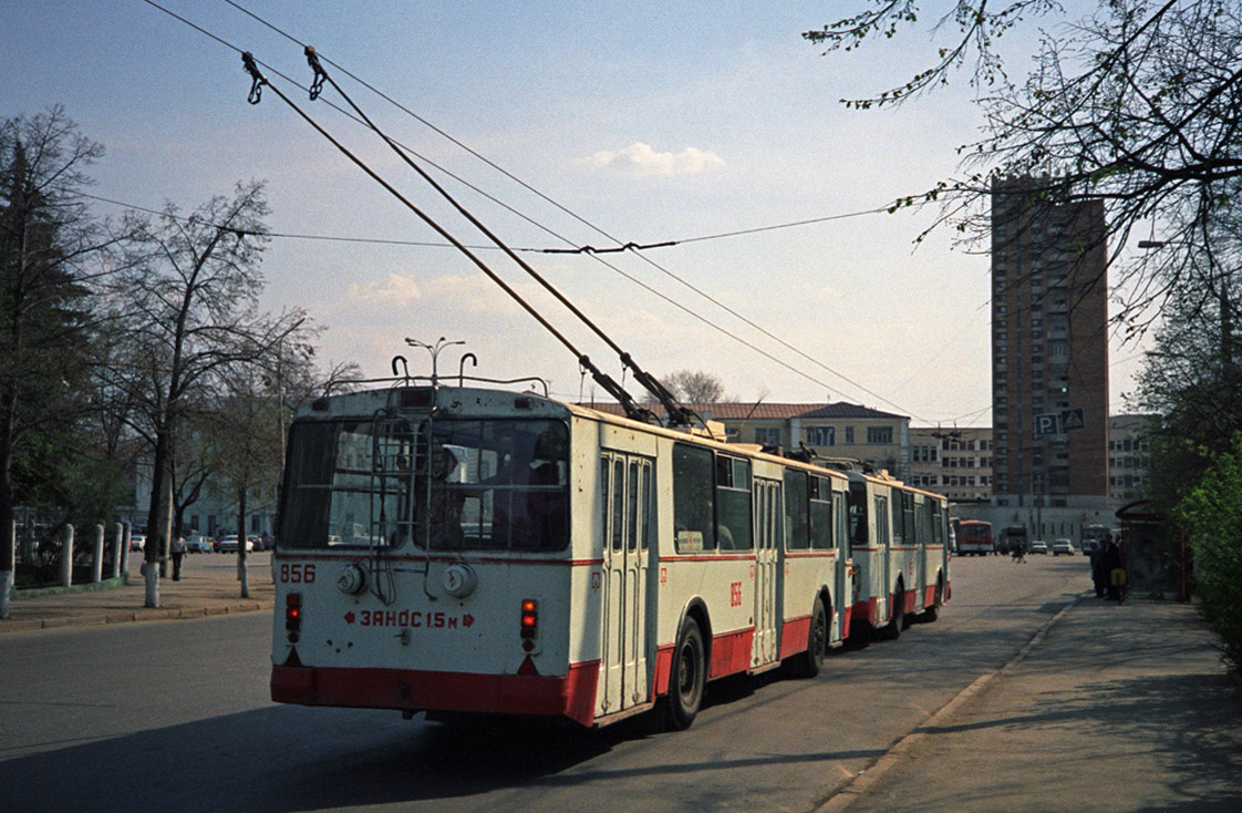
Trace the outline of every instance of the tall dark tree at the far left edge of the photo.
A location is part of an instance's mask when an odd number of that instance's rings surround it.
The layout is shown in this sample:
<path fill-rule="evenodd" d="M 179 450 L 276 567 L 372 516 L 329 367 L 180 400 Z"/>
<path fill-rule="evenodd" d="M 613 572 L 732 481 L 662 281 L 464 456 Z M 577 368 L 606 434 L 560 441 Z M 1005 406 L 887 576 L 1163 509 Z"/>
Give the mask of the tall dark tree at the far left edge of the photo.
<path fill-rule="evenodd" d="M 81 195 L 102 154 L 61 108 L 0 122 L 0 528 L 65 485 L 67 428 L 89 409 L 88 283 L 109 240 Z M 5 608 L 14 564 L 0 544 Z"/>

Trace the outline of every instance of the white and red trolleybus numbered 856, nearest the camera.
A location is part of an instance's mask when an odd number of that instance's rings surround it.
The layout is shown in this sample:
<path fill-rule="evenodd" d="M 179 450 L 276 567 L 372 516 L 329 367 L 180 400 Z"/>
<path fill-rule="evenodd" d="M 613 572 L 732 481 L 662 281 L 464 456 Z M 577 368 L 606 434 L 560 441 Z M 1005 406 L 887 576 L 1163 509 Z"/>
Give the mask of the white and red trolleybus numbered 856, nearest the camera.
<path fill-rule="evenodd" d="M 705 435 L 503 389 L 314 402 L 289 431 L 272 699 L 582 725 L 663 702 L 686 727 L 708 680 L 816 674 L 856 605 L 852 485 Z"/>

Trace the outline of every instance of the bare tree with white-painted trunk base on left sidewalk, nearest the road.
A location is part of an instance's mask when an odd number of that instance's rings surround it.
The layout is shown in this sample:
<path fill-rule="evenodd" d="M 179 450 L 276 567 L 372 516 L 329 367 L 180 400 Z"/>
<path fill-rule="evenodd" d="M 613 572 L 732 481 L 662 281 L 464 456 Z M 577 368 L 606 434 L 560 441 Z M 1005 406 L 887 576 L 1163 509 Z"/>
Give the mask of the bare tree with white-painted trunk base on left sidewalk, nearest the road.
<path fill-rule="evenodd" d="M 299 312 L 258 311 L 267 214 L 261 183 L 238 184 L 232 198 L 212 198 L 189 216 L 170 205 L 134 240 L 133 267 L 116 290 L 132 303 L 133 318 L 129 361 L 116 372 L 140 405 L 133 426 L 153 460 L 149 607 L 159 604 L 156 566 L 171 533 L 173 444 L 181 419 L 227 370 L 270 352 L 303 319 Z"/>

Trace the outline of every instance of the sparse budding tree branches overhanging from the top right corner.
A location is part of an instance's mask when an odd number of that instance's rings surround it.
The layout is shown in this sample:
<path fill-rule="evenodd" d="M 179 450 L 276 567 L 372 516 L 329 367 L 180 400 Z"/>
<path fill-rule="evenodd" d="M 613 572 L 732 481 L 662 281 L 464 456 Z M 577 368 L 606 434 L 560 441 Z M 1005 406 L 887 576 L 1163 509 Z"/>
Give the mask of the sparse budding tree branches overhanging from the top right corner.
<path fill-rule="evenodd" d="M 850 51 L 915 25 L 920 4 L 859 0 L 858 6 L 804 36 L 827 51 Z M 1114 319 L 1144 331 L 1171 293 L 1192 283 L 1196 249 L 1236 208 L 1240 7 L 1230 0 L 1102 1 L 1093 16 L 1045 31 L 1035 70 L 1025 82 L 1011 82 L 997 40 L 1049 15 L 1063 16 L 1061 5 L 958 0 L 938 27 L 950 39 L 908 83 L 842 101 L 859 108 L 903 103 L 972 66 L 984 134 L 960 148 L 968 174 L 903 198 L 894 209 L 939 201 L 938 224 L 951 221 L 968 239 L 986 239 L 997 178 L 1037 178 L 1033 199 L 1100 200 L 1122 297 Z M 1131 234 L 1154 231 L 1169 250 L 1125 259 Z"/>

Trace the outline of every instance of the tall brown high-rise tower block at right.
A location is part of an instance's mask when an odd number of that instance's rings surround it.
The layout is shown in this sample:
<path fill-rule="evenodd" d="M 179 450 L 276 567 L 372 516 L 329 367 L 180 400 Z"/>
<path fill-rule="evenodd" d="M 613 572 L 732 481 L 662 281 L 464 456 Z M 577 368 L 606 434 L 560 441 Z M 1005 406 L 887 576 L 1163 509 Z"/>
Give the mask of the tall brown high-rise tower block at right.
<path fill-rule="evenodd" d="M 1094 507 L 1109 475 L 1104 208 L 1046 186 L 992 186 L 992 502 Z"/>

